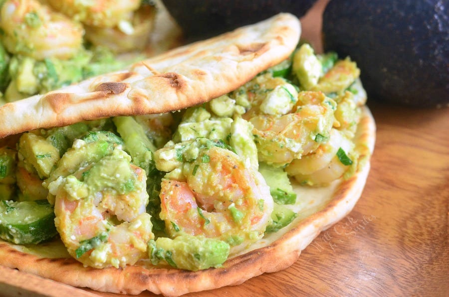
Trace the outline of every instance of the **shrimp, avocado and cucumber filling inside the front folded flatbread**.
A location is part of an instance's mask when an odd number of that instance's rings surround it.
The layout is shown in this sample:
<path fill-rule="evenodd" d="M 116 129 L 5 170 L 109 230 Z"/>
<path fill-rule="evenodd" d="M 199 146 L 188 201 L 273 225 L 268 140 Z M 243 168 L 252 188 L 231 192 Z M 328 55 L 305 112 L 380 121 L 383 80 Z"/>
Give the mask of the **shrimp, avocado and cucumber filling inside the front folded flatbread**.
<path fill-rule="evenodd" d="M 220 267 L 293 221 L 292 183 L 326 186 L 359 169 L 359 72 L 302 44 L 199 106 L 5 138 L 0 237 L 56 236 L 94 268 Z"/>

